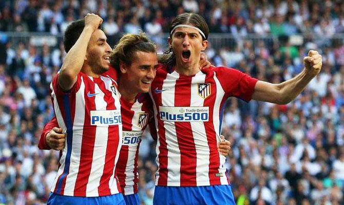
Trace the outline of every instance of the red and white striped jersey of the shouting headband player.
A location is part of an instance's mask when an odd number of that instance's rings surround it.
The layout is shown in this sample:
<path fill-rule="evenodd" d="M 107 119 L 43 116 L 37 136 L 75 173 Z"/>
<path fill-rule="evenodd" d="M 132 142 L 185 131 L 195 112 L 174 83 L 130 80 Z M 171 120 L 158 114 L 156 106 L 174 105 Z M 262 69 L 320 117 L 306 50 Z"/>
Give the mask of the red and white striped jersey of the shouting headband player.
<path fill-rule="evenodd" d="M 211 67 L 193 76 L 160 66 L 149 94 L 158 131 L 156 185 L 228 185 L 225 157 L 217 150 L 225 101 L 249 101 L 257 79 Z"/>

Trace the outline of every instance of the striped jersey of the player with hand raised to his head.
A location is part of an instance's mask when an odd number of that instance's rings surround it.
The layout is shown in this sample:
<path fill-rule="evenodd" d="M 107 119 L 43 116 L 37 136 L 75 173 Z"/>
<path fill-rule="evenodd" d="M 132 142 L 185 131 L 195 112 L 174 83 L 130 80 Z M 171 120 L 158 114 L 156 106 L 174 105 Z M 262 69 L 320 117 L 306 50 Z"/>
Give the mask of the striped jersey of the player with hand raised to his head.
<path fill-rule="evenodd" d="M 114 171 L 122 145 L 122 120 L 116 82 L 80 72 L 70 91 L 61 90 L 58 75 L 50 89 L 59 127 L 67 133 L 51 191 L 83 197 L 119 193 Z"/>

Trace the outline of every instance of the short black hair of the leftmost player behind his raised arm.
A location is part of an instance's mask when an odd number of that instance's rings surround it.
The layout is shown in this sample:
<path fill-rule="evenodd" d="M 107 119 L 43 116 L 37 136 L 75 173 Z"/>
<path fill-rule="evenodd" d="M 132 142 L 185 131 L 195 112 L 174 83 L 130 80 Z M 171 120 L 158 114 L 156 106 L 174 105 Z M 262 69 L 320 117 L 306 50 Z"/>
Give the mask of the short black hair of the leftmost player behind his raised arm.
<path fill-rule="evenodd" d="M 66 29 L 63 36 L 63 45 L 66 53 L 77 43 L 85 27 L 85 19 L 74 20 Z M 101 26 L 98 29 L 102 29 Z"/>

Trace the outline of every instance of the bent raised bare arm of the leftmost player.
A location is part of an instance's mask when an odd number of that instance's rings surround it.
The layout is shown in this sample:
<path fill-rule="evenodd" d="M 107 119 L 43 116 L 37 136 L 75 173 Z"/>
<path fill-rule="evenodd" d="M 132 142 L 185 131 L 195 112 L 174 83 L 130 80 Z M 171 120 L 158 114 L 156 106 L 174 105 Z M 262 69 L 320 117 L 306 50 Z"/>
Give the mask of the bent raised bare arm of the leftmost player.
<path fill-rule="evenodd" d="M 59 85 L 63 91 L 70 90 L 84 64 L 87 46 L 92 33 L 102 24 L 103 19 L 95 14 L 85 16 L 85 27 L 77 42 L 68 51 L 59 73 Z"/>

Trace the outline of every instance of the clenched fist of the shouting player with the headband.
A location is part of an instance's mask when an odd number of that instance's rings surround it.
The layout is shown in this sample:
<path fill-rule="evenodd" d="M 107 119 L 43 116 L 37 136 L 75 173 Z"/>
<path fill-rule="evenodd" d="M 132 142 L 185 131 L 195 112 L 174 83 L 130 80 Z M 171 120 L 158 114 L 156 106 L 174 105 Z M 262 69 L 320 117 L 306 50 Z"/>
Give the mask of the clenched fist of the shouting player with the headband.
<path fill-rule="evenodd" d="M 303 58 L 303 63 L 307 73 L 314 77 L 321 70 L 322 57 L 318 51 L 310 50 L 310 52 L 308 52 L 308 56 Z"/>

